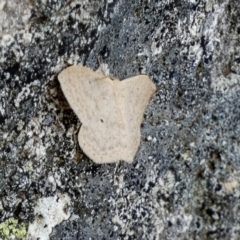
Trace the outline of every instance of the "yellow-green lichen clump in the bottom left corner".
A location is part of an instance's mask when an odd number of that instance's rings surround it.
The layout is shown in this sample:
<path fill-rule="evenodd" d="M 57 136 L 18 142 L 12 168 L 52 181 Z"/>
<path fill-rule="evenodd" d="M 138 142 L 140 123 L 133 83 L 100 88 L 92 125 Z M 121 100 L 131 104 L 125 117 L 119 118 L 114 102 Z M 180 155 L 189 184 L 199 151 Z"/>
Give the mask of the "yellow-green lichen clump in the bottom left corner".
<path fill-rule="evenodd" d="M 18 223 L 18 220 L 13 217 L 0 223 L 0 240 L 9 239 L 10 236 L 23 239 L 26 233 L 26 225 L 24 223 Z"/>

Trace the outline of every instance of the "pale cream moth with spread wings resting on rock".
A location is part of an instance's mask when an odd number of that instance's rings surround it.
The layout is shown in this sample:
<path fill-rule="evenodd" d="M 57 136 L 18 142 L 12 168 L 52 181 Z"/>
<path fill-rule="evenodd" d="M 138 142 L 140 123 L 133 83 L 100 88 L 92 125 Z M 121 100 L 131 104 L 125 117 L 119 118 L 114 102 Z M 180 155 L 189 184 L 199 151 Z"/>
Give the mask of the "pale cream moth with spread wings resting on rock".
<path fill-rule="evenodd" d="M 156 87 L 147 75 L 111 79 L 83 66 L 63 70 L 58 79 L 82 123 L 78 142 L 95 163 L 131 163 L 141 138 L 144 111 Z"/>

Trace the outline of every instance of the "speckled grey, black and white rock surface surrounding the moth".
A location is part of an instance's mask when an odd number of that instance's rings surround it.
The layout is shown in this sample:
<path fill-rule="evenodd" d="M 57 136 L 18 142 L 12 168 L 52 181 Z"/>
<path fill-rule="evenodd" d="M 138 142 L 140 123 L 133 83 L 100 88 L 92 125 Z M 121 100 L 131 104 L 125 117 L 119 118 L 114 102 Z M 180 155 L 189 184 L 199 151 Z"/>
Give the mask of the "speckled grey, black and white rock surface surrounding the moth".
<path fill-rule="evenodd" d="M 0 222 L 34 239 L 38 202 L 63 196 L 54 209 L 70 217 L 51 216 L 51 240 L 240 239 L 239 0 L 1 0 L 0 12 Z M 57 75 L 98 58 L 157 86 L 132 164 L 78 147 Z"/>

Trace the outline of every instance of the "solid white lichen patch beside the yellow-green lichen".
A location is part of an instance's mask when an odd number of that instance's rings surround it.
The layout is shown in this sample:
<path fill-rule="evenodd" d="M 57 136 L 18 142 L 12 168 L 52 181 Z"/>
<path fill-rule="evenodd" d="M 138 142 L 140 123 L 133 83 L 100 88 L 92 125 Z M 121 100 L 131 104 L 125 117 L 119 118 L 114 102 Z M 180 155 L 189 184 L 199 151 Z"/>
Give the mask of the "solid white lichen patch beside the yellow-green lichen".
<path fill-rule="evenodd" d="M 70 198 L 56 195 L 38 200 L 35 220 L 29 225 L 27 239 L 48 240 L 52 228 L 70 217 Z"/>

